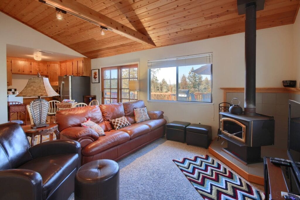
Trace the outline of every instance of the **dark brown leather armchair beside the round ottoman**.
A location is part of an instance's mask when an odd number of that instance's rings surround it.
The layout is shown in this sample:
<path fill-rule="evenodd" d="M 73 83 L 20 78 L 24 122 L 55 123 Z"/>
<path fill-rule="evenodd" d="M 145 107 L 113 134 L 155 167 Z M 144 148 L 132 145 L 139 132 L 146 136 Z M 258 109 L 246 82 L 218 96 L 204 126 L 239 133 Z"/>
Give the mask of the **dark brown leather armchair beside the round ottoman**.
<path fill-rule="evenodd" d="M 68 199 L 80 163 L 79 142 L 30 147 L 18 124 L 0 124 L 0 199 Z"/>

